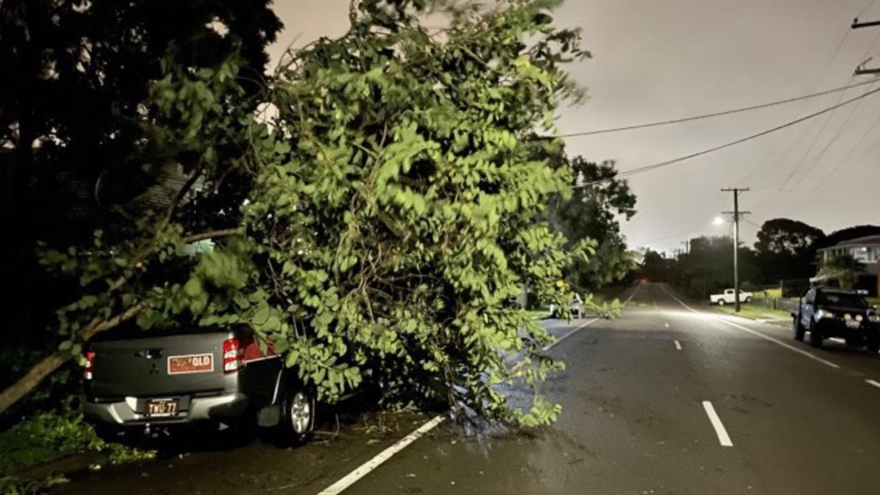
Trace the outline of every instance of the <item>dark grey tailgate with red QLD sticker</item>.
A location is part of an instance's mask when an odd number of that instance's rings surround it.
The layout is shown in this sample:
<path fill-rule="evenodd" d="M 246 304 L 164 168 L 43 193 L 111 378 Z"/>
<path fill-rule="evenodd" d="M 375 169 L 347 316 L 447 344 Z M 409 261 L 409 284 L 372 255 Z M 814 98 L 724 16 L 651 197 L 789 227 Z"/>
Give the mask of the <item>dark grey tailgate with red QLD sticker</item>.
<path fill-rule="evenodd" d="M 211 331 L 96 342 L 87 390 L 97 399 L 223 391 L 223 343 L 231 336 Z"/>

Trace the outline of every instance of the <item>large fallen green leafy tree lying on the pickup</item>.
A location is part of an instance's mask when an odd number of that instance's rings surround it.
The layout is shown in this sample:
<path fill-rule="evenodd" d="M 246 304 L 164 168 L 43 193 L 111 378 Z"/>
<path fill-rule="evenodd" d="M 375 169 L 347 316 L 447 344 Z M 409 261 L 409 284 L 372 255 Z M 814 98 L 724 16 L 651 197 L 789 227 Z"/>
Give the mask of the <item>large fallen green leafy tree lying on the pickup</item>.
<path fill-rule="evenodd" d="M 554 4 L 436 3 L 450 26 L 435 33 L 421 2 L 364 1 L 348 34 L 289 54 L 259 92 L 242 87 L 239 57 L 166 59 L 145 156 L 187 180 L 165 208 L 45 251 L 84 296 L 59 312 L 61 351 L 0 406 L 136 321 L 249 325 L 331 402 L 370 370 L 389 401 L 551 421 L 558 406 L 535 394 L 511 408 L 502 385 L 534 388 L 561 366 L 512 297 L 523 284 L 567 297 L 563 267 L 589 255 L 539 221 L 573 174 L 561 142 L 537 137 L 580 96 L 561 63 L 585 55 L 553 26 Z"/>

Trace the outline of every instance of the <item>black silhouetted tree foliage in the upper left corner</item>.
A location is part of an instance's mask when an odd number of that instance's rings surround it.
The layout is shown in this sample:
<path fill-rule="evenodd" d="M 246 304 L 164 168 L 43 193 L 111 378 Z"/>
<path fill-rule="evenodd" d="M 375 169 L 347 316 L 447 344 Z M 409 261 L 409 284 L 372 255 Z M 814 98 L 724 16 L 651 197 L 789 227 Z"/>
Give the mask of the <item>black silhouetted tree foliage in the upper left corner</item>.
<path fill-rule="evenodd" d="M 260 89 L 265 47 L 281 28 L 268 0 L 4 0 L 0 2 L 0 312 L 4 348 L 25 355 L 57 345 L 55 309 L 76 281 L 53 279 L 37 240 L 82 247 L 95 229 L 127 235 L 130 200 L 169 201 L 165 164 L 144 125 L 156 115 L 150 81 L 163 59 L 187 70 L 237 55 L 239 81 Z M 48 331 L 45 329 L 48 328 Z M 19 359 L 0 355 L 0 366 Z M 6 387 L 18 373 L 4 374 Z"/>

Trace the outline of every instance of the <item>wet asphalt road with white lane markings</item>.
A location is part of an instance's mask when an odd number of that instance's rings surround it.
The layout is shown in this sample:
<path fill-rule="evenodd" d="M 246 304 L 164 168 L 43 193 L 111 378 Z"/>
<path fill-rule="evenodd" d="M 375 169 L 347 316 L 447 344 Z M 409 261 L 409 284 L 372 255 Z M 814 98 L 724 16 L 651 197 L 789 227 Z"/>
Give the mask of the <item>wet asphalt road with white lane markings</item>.
<path fill-rule="evenodd" d="M 880 356 L 813 349 L 662 284 L 625 295 L 616 320 L 545 321 L 568 363 L 545 384 L 563 405 L 554 426 L 463 436 L 444 423 L 344 493 L 880 493 Z M 59 492 L 319 493 L 426 420 L 109 469 Z"/>

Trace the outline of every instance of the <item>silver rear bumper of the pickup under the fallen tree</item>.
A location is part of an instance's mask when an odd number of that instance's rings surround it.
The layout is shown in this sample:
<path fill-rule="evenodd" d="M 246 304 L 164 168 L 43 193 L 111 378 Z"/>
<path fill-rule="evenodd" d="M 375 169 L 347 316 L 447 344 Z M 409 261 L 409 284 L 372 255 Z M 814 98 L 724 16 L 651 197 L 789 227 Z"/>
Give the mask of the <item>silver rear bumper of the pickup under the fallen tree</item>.
<path fill-rule="evenodd" d="M 181 398 L 181 405 L 186 403 L 185 410 L 170 417 L 147 417 L 143 415 L 144 399 L 126 397 L 124 401 L 114 403 L 86 402 L 84 415 L 88 419 L 109 425 L 144 425 L 192 423 L 196 421 L 229 421 L 242 417 L 248 407 L 248 399 L 240 393 L 215 395 L 211 397 Z"/>

